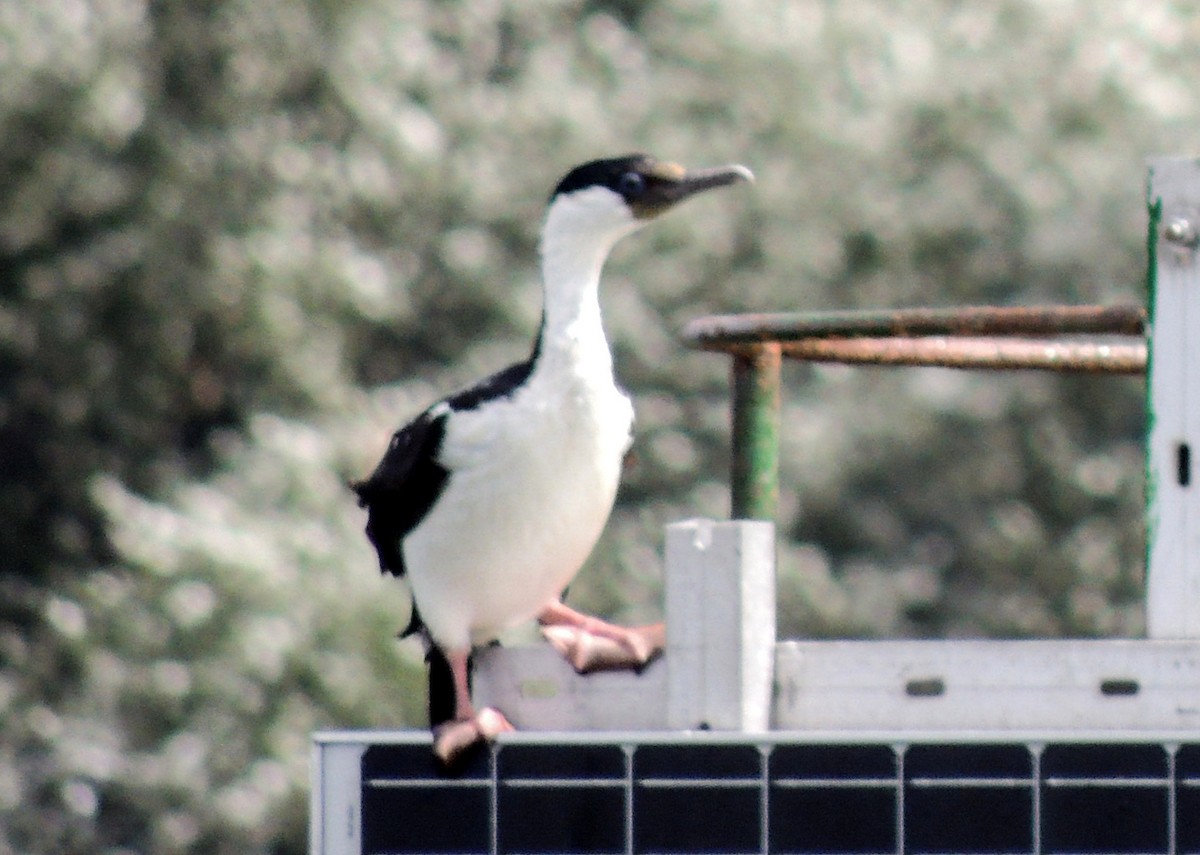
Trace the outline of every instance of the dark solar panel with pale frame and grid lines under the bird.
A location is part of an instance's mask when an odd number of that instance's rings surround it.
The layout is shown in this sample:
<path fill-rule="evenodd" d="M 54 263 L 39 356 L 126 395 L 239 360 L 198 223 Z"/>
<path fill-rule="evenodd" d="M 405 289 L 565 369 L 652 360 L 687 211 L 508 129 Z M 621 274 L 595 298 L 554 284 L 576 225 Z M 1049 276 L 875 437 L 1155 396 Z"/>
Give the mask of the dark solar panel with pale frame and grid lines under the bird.
<path fill-rule="evenodd" d="M 356 807 L 314 853 L 1200 853 L 1200 739 L 518 734 L 446 777 L 377 736 L 318 737 L 356 763 L 314 805 Z"/>

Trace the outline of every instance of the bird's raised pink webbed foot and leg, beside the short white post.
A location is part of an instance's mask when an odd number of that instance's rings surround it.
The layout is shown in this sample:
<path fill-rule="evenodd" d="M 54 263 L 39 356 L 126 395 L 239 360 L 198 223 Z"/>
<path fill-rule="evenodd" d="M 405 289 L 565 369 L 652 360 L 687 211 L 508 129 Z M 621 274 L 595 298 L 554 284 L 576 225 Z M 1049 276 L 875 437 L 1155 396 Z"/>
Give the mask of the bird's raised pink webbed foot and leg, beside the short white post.
<path fill-rule="evenodd" d="M 618 627 L 584 615 L 559 600 L 538 616 L 541 634 L 580 674 L 629 669 L 638 671 L 662 654 L 666 624 Z"/>

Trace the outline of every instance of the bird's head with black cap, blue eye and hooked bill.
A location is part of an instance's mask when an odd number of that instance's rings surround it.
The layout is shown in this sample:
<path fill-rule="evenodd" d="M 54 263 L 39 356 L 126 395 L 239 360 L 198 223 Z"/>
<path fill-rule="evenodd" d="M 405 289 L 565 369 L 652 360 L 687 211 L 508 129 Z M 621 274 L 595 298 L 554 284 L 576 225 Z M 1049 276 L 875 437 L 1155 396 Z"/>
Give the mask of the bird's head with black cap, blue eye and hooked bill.
<path fill-rule="evenodd" d="M 558 183 L 546 226 L 616 241 L 697 193 L 752 180 L 740 165 L 685 169 L 643 154 L 590 161 Z"/>

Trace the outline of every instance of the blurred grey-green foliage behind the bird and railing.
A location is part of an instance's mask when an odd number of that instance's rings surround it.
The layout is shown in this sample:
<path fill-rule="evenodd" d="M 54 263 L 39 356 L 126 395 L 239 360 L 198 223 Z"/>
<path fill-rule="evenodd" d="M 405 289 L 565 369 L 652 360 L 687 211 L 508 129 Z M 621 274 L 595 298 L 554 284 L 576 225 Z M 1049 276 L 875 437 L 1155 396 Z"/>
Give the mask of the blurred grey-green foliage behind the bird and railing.
<path fill-rule="evenodd" d="M 1145 299 L 1195 5 L 0 0 L 0 851 L 302 853 L 317 728 L 419 727 L 346 482 L 527 353 L 545 198 L 758 183 L 625 241 L 637 464 L 572 602 L 727 513 L 710 312 Z M 792 366 L 780 628 L 1141 632 L 1144 384 Z"/>

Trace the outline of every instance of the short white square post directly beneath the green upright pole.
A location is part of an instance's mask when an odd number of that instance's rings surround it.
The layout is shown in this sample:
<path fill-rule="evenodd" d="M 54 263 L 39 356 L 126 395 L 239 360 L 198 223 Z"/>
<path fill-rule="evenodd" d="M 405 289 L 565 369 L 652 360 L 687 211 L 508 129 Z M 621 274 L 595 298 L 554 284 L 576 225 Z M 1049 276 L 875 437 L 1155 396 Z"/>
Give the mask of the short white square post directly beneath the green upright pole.
<path fill-rule="evenodd" d="M 761 520 L 667 526 L 667 727 L 770 727 L 775 527 Z"/>

